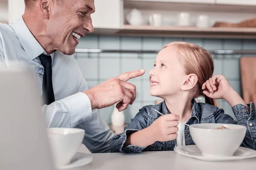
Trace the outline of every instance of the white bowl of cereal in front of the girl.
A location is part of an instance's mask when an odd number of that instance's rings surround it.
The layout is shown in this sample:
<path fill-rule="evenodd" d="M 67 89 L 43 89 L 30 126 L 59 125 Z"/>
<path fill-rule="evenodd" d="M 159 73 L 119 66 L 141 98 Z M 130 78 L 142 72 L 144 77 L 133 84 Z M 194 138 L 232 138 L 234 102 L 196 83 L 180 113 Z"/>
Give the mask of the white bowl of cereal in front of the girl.
<path fill-rule="evenodd" d="M 228 129 L 216 129 L 225 126 Z M 192 139 L 201 150 L 203 156 L 233 156 L 241 145 L 246 127 L 233 124 L 202 123 L 189 127 Z"/>

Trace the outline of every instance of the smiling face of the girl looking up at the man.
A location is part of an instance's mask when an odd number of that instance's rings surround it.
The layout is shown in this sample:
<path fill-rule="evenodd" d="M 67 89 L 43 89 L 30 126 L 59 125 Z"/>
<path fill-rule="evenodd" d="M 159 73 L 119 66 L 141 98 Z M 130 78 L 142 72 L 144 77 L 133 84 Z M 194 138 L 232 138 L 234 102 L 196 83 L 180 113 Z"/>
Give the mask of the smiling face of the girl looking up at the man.
<path fill-rule="evenodd" d="M 150 74 L 150 95 L 165 99 L 175 96 L 185 83 L 184 57 L 178 56 L 174 45 L 163 48 L 157 55 Z"/>

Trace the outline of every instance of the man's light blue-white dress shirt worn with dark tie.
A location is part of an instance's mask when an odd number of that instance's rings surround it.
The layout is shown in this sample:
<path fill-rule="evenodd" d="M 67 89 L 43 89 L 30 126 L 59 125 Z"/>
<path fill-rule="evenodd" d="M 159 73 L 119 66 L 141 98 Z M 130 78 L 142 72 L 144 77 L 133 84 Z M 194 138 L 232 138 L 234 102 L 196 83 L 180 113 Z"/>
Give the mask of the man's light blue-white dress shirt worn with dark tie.
<path fill-rule="evenodd" d="M 0 23 L 0 62 L 23 62 L 35 73 L 39 94 L 42 95 L 44 67 L 39 59 L 44 48 L 27 28 L 22 17 L 12 25 Z M 91 110 L 90 99 L 84 93 L 87 82 L 73 56 L 55 51 L 52 57 L 52 84 L 55 102 L 44 105 L 47 127 L 79 127 L 85 130 L 84 144 L 91 152 L 108 152 L 113 132 Z"/>

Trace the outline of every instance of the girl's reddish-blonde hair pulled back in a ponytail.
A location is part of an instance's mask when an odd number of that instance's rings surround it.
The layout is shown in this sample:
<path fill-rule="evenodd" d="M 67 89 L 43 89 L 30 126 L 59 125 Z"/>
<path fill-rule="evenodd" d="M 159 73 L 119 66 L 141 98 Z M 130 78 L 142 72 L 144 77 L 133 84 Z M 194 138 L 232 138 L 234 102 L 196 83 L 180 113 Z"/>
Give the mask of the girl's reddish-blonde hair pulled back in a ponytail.
<path fill-rule="evenodd" d="M 212 77 L 214 71 L 214 62 L 211 54 L 199 45 L 189 42 L 171 42 L 163 48 L 170 45 L 175 45 L 177 53 L 184 57 L 185 73 L 195 74 L 198 77 L 198 82 L 192 91 L 192 97 L 204 96 L 206 103 L 218 106 L 217 101 L 205 96 L 202 90 L 202 85 Z"/>

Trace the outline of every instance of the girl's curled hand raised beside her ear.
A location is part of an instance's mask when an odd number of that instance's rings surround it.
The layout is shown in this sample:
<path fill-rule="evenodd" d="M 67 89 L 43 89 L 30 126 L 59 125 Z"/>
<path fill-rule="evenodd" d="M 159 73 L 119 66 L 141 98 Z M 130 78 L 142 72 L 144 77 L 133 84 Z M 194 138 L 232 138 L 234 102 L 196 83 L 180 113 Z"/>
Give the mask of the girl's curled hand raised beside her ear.
<path fill-rule="evenodd" d="M 202 90 L 212 99 L 227 99 L 233 88 L 224 76 L 214 75 L 202 85 Z"/>

